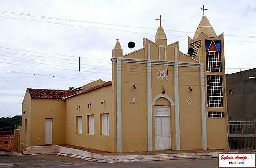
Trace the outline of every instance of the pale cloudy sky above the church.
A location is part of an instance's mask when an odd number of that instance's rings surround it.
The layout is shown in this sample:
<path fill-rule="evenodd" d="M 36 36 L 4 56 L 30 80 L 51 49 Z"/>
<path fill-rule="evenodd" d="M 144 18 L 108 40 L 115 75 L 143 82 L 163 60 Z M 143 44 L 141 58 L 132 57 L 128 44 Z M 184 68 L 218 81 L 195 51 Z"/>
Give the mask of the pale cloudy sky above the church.
<path fill-rule="evenodd" d="M 0 117 L 21 115 L 26 88 L 110 81 L 116 39 L 124 54 L 129 41 L 135 50 L 143 37 L 154 41 L 160 14 L 168 44 L 187 53 L 202 5 L 216 34 L 224 32 L 226 74 L 255 68 L 254 0 L 0 0 Z"/>

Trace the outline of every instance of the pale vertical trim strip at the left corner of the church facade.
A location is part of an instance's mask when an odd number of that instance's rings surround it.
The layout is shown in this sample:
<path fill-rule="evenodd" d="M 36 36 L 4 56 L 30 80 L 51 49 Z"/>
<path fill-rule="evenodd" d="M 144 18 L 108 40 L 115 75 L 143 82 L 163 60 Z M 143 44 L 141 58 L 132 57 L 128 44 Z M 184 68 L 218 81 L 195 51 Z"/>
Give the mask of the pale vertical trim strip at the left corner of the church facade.
<path fill-rule="evenodd" d="M 117 125 L 117 152 L 122 152 L 122 83 L 121 58 L 117 58 L 116 65 L 116 125 Z"/>

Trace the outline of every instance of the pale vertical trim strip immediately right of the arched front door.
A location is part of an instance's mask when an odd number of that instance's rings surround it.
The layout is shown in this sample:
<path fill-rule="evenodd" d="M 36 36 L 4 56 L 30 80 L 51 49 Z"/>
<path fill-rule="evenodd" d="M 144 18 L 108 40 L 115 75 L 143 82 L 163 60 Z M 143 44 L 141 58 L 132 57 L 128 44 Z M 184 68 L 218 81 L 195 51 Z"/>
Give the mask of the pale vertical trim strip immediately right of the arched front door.
<path fill-rule="evenodd" d="M 174 47 L 174 96 L 175 96 L 175 134 L 176 134 L 176 150 L 181 150 L 180 144 L 180 112 L 179 112 L 179 81 L 178 81 L 178 62 L 177 47 Z"/>

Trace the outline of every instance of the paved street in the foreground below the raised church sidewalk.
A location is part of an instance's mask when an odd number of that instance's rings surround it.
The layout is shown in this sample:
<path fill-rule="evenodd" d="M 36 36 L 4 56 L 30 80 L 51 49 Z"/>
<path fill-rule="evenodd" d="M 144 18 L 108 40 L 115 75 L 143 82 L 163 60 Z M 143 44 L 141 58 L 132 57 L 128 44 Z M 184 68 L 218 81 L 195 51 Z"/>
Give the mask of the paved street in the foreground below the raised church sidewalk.
<path fill-rule="evenodd" d="M 96 163 L 58 155 L 0 156 L 0 168 L 218 168 L 218 159 Z"/>

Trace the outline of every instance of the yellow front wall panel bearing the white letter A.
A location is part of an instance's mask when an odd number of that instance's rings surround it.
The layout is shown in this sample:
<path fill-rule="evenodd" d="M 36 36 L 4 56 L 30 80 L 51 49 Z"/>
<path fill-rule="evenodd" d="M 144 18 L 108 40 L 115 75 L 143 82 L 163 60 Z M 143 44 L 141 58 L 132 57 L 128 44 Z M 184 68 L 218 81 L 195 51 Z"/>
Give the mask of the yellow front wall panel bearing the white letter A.
<path fill-rule="evenodd" d="M 122 62 L 121 68 L 122 151 L 147 151 L 146 64 Z M 133 85 L 136 85 L 135 90 Z M 133 97 L 138 104 L 131 104 Z"/>

